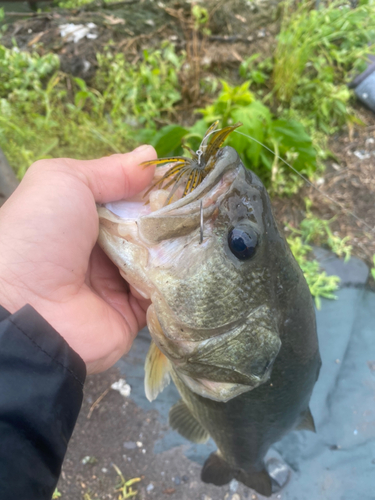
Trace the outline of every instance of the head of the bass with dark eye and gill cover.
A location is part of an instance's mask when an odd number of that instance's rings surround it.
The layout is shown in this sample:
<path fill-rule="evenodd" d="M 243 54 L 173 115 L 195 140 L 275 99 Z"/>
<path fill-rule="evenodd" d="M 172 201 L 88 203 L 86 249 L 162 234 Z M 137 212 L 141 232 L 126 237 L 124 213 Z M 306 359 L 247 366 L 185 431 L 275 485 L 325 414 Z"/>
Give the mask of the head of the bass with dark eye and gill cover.
<path fill-rule="evenodd" d="M 99 207 L 99 244 L 151 299 L 148 327 L 173 376 L 216 401 L 263 384 L 281 347 L 287 251 L 263 184 L 227 146 L 190 194 L 153 208 Z"/>

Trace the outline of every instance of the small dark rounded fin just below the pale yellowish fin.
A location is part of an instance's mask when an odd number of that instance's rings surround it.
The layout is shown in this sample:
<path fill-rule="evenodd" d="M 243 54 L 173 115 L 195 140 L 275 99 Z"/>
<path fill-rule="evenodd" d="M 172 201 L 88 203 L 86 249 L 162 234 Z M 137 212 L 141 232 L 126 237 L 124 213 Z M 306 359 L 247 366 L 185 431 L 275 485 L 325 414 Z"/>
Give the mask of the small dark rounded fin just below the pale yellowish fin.
<path fill-rule="evenodd" d="M 180 400 L 169 410 L 169 425 L 193 443 L 206 443 L 210 435 Z"/>

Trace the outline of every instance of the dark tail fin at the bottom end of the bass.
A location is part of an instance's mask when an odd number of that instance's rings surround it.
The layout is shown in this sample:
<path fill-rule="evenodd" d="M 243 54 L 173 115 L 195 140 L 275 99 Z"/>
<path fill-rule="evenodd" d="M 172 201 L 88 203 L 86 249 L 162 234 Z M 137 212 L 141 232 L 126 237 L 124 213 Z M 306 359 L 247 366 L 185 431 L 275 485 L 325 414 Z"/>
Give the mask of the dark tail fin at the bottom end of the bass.
<path fill-rule="evenodd" d="M 204 483 L 212 483 L 216 486 L 224 486 L 232 479 L 237 479 L 261 495 L 266 497 L 272 495 L 272 478 L 265 468 L 250 472 L 233 468 L 224 460 L 220 451 L 211 453 L 207 458 L 202 468 L 201 479 Z"/>

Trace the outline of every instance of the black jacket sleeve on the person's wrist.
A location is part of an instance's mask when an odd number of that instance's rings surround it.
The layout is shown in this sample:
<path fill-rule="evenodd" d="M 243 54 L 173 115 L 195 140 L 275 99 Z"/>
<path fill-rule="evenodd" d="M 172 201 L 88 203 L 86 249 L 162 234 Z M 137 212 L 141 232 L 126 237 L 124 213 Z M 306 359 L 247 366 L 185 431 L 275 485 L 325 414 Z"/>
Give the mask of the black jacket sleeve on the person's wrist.
<path fill-rule="evenodd" d="M 49 500 L 82 404 L 85 363 L 31 307 L 0 307 L 0 500 Z"/>

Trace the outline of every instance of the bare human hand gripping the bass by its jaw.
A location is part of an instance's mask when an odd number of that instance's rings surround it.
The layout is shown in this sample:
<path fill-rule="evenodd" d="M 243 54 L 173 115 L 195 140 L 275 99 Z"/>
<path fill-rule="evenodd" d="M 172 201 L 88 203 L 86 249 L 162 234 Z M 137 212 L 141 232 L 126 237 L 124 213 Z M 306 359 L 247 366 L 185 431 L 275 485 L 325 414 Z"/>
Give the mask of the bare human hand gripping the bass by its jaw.
<path fill-rule="evenodd" d="M 86 363 L 112 366 L 145 325 L 149 302 L 96 244 L 95 203 L 129 198 L 152 180 L 151 146 L 100 160 L 41 160 L 0 209 L 0 304 L 30 304 Z"/>

